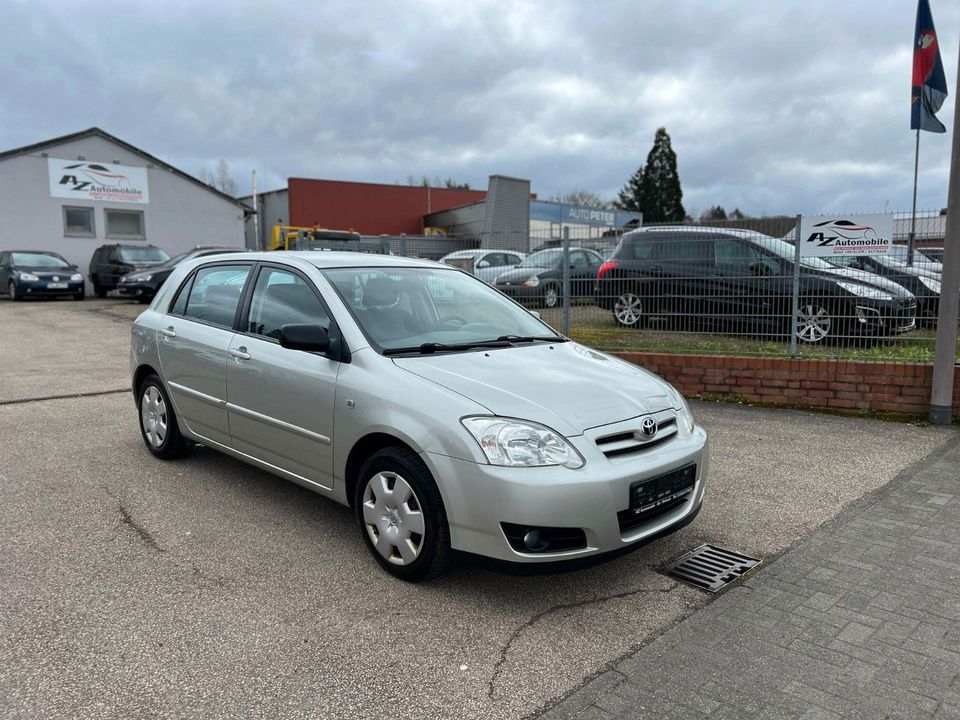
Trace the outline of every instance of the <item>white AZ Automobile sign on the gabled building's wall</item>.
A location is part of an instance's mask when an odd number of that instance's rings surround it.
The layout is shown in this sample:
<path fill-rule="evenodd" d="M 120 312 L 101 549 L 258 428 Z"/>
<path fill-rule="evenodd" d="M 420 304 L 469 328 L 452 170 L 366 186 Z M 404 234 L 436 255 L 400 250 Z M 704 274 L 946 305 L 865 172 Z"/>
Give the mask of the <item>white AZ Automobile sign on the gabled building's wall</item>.
<path fill-rule="evenodd" d="M 147 169 L 47 158 L 50 197 L 146 204 Z"/>

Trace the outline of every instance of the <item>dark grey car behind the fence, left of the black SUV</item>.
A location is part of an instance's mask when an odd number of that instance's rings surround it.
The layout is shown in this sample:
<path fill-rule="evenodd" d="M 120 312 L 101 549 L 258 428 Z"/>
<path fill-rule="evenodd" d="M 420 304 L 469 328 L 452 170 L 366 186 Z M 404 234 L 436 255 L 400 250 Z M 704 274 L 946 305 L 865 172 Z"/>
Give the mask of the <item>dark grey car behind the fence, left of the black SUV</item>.
<path fill-rule="evenodd" d="M 585 248 L 570 248 L 571 297 L 589 295 L 597 271 L 603 264 L 599 253 Z M 514 300 L 538 302 L 557 307 L 563 299 L 563 250 L 541 250 L 525 258 L 513 270 L 499 275 L 494 287 Z"/>

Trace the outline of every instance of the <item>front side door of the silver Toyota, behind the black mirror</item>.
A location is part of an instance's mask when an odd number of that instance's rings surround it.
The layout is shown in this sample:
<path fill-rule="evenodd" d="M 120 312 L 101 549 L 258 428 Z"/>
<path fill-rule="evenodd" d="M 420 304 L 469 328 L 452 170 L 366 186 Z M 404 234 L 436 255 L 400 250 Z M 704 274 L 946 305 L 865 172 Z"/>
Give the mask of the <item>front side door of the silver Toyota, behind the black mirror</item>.
<path fill-rule="evenodd" d="M 280 346 L 286 324 L 321 325 L 330 314 L 313 283 L 286 266 L 262 265 L 227 359 L 234 449 L 325 488 L 333 487 L 333 409 L 340 363 Z"/>

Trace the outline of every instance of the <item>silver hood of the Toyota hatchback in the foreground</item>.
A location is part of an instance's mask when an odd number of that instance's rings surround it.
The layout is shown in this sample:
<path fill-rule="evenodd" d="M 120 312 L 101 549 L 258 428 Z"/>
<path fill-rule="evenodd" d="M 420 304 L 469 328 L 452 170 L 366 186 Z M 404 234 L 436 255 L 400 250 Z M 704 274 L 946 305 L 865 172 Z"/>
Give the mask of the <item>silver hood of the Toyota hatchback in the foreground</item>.
<path fill-rule="evenodd" d="M 672 405 L 656 375 L 574 342 L 393 358 L 400 368 L 568 437 Z"/>

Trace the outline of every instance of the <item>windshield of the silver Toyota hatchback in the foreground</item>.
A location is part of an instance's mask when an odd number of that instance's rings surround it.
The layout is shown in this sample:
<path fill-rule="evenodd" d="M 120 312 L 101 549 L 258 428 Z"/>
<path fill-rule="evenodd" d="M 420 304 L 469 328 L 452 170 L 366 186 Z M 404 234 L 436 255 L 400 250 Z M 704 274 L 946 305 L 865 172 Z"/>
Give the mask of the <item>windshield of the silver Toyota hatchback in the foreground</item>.
<path fill-rule="evenodd" d="M 456 270 L 362 267 L 323 273 L 381 350 L 498 340 L 505 344 L 505 336 L 563 339 L 486 283 Z"/>

